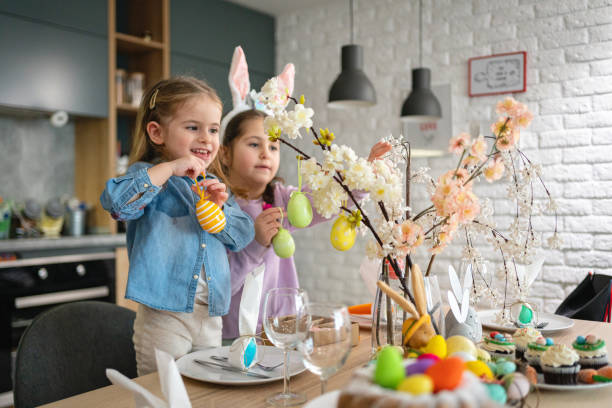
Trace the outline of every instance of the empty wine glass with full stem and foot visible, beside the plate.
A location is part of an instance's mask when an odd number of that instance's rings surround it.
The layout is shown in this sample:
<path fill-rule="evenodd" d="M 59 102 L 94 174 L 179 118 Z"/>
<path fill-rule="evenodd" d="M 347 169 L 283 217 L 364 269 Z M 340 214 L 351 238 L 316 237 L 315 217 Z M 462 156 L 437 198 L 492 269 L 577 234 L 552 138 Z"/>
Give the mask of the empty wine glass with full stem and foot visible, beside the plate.
<path fill-rule="evenodd" d="M 275 288 L 268 291 L 264 304 L 263 326 L 268 339 L 283 349 L 283 392 L 268 397 L 272 405 L 288 407 L 306 401 L 305 394 L 289 391 L 289 349 L 306 337 L 310 317 L 306 310 L 308 296 L 302 289 Z"/>

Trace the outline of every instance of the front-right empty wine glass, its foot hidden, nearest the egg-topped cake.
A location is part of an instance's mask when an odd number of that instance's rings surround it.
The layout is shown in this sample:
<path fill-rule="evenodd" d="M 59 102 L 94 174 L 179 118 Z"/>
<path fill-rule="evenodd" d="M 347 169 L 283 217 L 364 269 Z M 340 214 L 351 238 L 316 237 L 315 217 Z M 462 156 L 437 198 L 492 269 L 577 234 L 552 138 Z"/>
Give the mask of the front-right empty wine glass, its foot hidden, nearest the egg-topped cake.
<path fill-rule="evenodd" d="M 351 321 L 345 306 L 309 303 L 311 324 L 298 345 L 304 366 L 321 378 L 321 394 L 327 379 L 344 365 L 351 351 Z"/>

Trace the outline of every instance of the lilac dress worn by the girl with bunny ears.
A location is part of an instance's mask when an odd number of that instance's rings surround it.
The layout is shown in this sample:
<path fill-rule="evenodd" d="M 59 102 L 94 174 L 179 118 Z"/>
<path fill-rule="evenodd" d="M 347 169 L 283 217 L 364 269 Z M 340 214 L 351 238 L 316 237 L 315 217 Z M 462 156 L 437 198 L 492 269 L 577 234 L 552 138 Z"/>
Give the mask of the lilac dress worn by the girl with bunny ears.
<path fill-rule="evenodd" d="M 285 186 L 282 183 L 276 183 L 274 187 L 274 207 L 282 207 L 287 209 L 287 203 L 292 192 L 297 188 L 293 186 Z M 359 198 L 362 198 L 361 195 Z M 242 209 L 253 218 L 253 221 L 262 212 L 262 199 L 244 200 L 236 198 L 236 202 Z M 310 226 L 320 222 L 327 221 L 327 218 L 313 211 L 313 218 Z M 283 220 L 283 227 L 289 231 L 296 228 L 293 227 L 288 220 Z M 262 316 L 264 299 L 266 293 L 272 288 L 297 288 L 299 287 L 297 271 L 295 270 L 295 262 L 293 256 L 289 258 L 279 258 L 275 253 L 272 245 L 264 247 L 255 239 L 251 241 L 246 248 L 240 252 L 228 252 L 232 300 L 230 303 L 229 313 L 223 316 L 223 338 L 233 339 L 239 336 L 238 332 L 238 312 L 240 309 L 240 298 L 242 296 L 242 287 L 246 275 L 257 268 L 262 263 L 265 263 L 266 268 L 263 278 L 263 289 L 261 294 L 261 303 L 259 305 L 259 318 L 257 321 L 257 332 L 262 330 Z"/>

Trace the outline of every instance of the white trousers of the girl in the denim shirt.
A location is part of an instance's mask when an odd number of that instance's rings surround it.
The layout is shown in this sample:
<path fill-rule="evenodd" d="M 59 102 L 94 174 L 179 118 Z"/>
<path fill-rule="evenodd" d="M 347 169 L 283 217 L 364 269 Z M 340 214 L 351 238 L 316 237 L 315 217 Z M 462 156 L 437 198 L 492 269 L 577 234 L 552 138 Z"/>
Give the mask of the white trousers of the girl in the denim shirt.
<path fill-rule="evenodd" d="M 169 312 L 138 305 L 134 321 L 134 350 L 138 375 L 157 370 L 155 349 L 175 359 L 208 347 L 221 346 L 220 316 L 209 316 L 208 305 L 193 305 L 193 313 Z"/>

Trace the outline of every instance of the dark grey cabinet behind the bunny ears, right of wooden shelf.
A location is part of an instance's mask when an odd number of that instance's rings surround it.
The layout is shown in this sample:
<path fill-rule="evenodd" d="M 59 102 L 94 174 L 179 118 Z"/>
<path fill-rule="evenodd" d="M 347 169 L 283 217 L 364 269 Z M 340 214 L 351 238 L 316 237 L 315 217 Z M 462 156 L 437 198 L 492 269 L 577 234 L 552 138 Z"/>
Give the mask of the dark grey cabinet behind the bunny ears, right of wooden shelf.
<path fill-rule="evenodd" d="M 234 48 L 241 45 L 251 88 L 274 75 L 274 17 L 219 0 L 170 1 L 170 50 L 173 75 L 205 79 L 232 109 L 227 75 Z"/>

